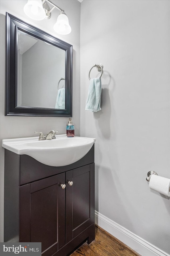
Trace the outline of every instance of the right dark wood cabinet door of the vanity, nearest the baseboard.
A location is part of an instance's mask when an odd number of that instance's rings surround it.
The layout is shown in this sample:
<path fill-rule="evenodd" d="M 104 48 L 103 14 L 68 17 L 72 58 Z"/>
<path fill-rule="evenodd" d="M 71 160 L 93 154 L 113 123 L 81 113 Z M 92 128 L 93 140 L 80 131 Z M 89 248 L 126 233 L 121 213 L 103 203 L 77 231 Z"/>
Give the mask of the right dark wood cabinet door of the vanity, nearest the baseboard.
<path fill-rule="evenodd" d="M 66 243 L 95 222 L 94 194 L 94 163 L 66 172 Z"/>

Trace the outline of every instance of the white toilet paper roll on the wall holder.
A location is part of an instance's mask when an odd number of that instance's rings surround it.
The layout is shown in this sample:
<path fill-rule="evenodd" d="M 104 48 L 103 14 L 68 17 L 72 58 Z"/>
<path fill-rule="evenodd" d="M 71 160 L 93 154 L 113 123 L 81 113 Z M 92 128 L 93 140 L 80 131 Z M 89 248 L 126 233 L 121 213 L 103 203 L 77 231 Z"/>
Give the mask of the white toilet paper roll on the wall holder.
<path fill-rule="evenodd" d="M 152 174 L 150 177 L 149 187 L 150 189 L 170 197 L 170 179 Z"/>

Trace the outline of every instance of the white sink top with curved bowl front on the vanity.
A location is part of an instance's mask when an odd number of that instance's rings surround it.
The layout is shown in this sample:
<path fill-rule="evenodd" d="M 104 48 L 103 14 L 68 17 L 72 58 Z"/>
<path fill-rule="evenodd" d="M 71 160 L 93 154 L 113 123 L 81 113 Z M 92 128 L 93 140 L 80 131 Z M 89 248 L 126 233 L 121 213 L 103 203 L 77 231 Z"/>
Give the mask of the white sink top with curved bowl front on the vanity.
<path fill-rule="evenodd" d="M 77 162 L 91 149 L 96 139 L 56 135 L 56 139 L 39 141 L 39 137 L 3 139 L 2 147 L 19 155 L 29 155 L 50 166 Z"/>

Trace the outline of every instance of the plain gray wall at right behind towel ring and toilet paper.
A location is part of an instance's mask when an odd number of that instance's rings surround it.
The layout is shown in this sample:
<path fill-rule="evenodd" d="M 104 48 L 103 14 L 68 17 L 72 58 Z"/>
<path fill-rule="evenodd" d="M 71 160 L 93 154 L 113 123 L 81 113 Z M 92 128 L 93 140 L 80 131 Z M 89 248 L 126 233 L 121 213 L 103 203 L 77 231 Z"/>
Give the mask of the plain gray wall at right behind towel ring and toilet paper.
<path fill-rule="evenodd" d="M 96 138 L 96 211 L 169 253 L 169 198 L 146 181 L 150 170 L 170 178 L 169 1 L 86 0 L 80 24 L 80 135 Z M 88 72 L 100 63 L 102 110 L 91 113 Z"/>

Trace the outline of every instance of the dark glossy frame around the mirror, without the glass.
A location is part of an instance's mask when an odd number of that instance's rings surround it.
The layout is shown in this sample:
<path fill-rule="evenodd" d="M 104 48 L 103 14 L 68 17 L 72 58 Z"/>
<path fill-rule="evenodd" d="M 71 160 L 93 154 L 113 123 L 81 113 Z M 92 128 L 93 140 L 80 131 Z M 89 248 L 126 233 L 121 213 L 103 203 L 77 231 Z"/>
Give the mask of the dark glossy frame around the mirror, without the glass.
<path fill-rule="evenodd" d="M 17 30 L 65 50 L 65 106 L 48 109 L 17 106 Z M 73 46 L 6 13 L 6 111 L 5 115 L 72 117 L 72 55 Z"/>

